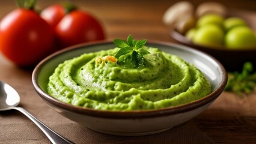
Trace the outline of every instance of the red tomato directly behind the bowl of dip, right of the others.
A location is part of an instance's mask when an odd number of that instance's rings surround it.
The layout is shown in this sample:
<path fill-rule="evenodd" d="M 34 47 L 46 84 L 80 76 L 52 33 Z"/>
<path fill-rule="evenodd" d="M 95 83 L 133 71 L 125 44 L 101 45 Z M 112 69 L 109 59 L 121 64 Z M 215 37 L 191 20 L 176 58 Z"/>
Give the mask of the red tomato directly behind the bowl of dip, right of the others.
<path fill-rule="evenodd" d="M 56 25 L 55 34 L 61 48 L 105 38 L 102 26 L 85 11 L 73 10 Z"/>

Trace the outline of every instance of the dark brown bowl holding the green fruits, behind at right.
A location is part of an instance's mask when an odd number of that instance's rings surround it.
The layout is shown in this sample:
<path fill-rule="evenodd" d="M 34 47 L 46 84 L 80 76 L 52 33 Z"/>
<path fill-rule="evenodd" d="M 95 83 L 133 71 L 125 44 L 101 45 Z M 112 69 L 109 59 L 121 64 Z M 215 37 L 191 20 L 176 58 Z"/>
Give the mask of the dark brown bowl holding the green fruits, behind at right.
<path fill-rule="evenodd" d="M 256 13 L 252 11 L 245 10 L 228 10 L 228 16 L 236 16 L 241 17 L 248 22 L 250 28 L 252 28 L 256 32 Z M 198 44 L 192 43 L 192 41 L 188 40 L 184 35 L 180 34 L 176 29 L 173 29 L 170 32 L 170 35 L 174 40 L 176 40 L 179 44 L 183 44 L 189 47 L 193 47 L 194 49 L 201 50 L 212 55 L 214 58 L 218 59 L 224 65 L 227 71 L 242 71 L 243 64 L 245 62 L 252 62 L 254 67 L 256 68 L 256 47 L 255 49 L 227 49 L 227 47 L 208 47 L 208 46 L 200 46 Z"/>

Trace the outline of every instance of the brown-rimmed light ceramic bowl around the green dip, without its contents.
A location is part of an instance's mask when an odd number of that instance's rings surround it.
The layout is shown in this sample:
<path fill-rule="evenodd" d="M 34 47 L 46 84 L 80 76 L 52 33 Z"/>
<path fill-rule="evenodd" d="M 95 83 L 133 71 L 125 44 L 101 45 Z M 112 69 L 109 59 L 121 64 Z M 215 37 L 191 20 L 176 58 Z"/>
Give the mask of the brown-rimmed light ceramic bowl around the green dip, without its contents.
<path fill-rule="evenodd" d="M 111 41 L 79 44 L 53 53 L 35 67 L 32 73 L 32 83 L 35 91 L 37 91 L 38 95 L 40 95 L 46 104 L 62 116 L 100 133 L 119 136 L 154 134 L 180 125 L 207 109 L 222 91 L 224 91 L 225 85 L 227 84 L 227 73 L 221 63 L 212 56 L 178 44 L 149 41 L 146 45 L 158 47 L 164 52 L 178 55 L 185 61 L 194 64 L 210 80 L 212 92 L 206 97 L 180 106 L 126 112 L 72 106 L 71 104 L 58 101 L 47 94 L 46 86 L 49 76 L 58 64 L 67 59 L 79 56 L 82 53 L 112 49 L 115 46 Z"/>

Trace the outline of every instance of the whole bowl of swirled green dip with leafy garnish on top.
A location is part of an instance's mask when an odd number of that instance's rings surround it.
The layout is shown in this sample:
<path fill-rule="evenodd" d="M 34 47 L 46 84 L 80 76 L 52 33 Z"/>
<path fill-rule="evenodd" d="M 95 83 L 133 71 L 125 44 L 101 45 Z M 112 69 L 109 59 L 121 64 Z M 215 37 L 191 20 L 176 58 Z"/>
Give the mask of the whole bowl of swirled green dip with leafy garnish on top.
<path fill-rule="evenodd" d="M 35 91 L 62 116 L 100 133 L 142 136 L 182 124 L 224 91 L 212 56 L 160 41 L 98 41 L 60 50 L 32 73 Z"/>

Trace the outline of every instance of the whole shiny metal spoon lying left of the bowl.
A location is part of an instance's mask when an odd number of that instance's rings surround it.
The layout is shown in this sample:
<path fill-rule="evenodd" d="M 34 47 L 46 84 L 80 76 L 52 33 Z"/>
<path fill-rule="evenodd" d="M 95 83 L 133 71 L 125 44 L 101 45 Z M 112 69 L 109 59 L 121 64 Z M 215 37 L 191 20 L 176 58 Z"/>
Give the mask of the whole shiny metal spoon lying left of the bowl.
<path fill-rule="evenodd" d="M 49 138 L 52 143 L 73 143 L 70 140 L 57 134 L 55 131 L 51 130 L 49 127 L 39 121 L 35 116 L 32 116 L 28 111 L 22 107 L 17 107 L 20 103 L 20 96 L 17 91 L 12 88 L 7 83 L 0 81 L 0 111 L 16 109 L 22 112 L 24 115 L 28 116 L 31 121 L 33 121 Z"/>

